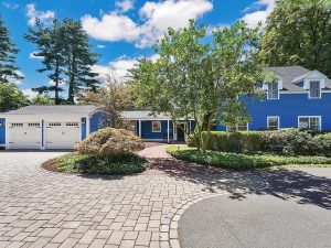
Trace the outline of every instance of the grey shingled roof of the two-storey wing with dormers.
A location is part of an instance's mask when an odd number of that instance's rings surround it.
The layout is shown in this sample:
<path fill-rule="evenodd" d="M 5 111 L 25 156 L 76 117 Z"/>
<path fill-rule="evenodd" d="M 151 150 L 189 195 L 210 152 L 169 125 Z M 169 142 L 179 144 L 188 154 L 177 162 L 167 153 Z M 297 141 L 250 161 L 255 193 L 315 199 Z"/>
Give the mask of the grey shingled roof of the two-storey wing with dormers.
<path fill-rule="evenodd" d="M 311 71 L 302 66 L 280 66 L 280 67 L 266 67 L 265 72 L 275 73 L 282 78 L 282 90 L 289 91 L 306 91 L 302 87 L 293 84 L 293 79 L 303 76 Z M 325 88 L 331 89 L 331 80 L 325 80 Z"/>

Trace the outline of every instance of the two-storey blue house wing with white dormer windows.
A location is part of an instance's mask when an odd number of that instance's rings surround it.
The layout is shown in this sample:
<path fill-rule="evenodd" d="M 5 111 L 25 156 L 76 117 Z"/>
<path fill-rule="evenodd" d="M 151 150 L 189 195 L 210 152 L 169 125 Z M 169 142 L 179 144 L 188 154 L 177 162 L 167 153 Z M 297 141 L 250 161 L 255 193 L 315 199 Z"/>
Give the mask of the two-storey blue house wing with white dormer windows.
<path fill-rule="evenodd" d="M 331 130 L 331 80 L 325 75 L 301 66 L 268 67 L 265 71 L 277 77 L 273 85 L 263 85 L 265 98 L 242 98 L 252 122 L 236 127 L 218 123 L 217 130 Z"/>

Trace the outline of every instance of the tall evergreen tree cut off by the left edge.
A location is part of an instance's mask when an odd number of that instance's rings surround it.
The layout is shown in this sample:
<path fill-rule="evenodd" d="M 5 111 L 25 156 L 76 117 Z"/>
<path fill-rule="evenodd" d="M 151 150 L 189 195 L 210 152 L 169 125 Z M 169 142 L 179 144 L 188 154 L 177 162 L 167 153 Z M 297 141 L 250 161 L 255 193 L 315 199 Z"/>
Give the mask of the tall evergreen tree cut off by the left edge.
<path fill-rule="evenodd" d="M 10 40 L 10 32 L 0 15 L 0 83 L 10 79 L 22 79 L 15 66 L 15 54 L 19 50 Z"/>

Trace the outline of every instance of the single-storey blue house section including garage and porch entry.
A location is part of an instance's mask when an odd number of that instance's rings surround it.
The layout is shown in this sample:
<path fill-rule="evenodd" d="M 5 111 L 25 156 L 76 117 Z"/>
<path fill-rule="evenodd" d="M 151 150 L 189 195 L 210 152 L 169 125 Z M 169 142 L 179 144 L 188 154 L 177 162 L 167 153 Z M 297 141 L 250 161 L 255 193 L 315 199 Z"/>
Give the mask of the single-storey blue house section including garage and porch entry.
<path fill-rule="evenodd" d="M 183 141 L 183 129 L 194 129 L 193 121 L 174 126 L 169 117 L 151 111 L 124 111 L 122 118 L 145 141 Z M 105 126 L 106 116 L 95 106 L 26 106 L 0 114 L 0 148 L 73 149 Z"/>

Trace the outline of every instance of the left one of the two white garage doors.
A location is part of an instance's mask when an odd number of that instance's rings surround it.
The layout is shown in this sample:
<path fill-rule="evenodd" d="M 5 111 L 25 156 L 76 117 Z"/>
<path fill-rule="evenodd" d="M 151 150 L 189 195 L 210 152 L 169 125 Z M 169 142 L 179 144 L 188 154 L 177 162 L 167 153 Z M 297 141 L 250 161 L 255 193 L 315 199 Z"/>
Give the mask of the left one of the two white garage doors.
<path fill-rule="evenodd" d="M 40 149 L 40 122 L 12 122 L 8 129 L 10 149 Z"/>

